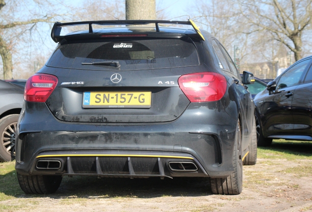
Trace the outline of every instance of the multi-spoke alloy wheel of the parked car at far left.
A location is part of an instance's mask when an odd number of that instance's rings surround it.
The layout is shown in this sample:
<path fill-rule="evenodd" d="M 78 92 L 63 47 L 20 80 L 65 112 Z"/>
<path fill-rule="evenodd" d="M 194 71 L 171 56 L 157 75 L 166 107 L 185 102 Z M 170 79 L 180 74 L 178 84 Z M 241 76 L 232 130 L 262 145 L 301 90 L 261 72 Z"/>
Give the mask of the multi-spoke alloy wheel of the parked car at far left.
<path fill-rule="evenodd" d="M 15 131 L 19 114 L 11 114 L 0 119 L 0 161 L 15 159 Z"/>

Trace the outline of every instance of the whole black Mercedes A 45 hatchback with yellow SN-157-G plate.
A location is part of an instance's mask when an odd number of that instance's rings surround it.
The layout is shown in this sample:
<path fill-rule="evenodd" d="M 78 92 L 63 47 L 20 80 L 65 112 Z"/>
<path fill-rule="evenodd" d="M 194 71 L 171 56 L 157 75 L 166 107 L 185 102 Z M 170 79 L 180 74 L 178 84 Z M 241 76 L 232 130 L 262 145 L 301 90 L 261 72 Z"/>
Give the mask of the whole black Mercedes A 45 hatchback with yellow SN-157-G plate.
<path fill-rule="evenodd" d="M 76 25 L 88 29 L 61 35 Z M 75 175 L 207 177 L 213 193 L 241 192 L 242 165 L 257 160 L 244 86 L 254 79 L 241 79 L 216 38 L 192 21 L 94 21 L 55 23 L 52 39 L 18 122 L 26 193 L 54 192 Z"/>

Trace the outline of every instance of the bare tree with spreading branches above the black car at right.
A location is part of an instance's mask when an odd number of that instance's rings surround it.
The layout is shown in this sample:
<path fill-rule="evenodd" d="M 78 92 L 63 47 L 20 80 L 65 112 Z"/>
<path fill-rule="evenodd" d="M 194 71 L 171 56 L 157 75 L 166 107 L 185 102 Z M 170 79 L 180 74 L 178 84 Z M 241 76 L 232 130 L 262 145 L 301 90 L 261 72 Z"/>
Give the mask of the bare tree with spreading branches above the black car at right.
<path fill-rule="evenodd" d="M 312 0 L 238 0 L 244 33 L 265 31 L 302 58 L 302 36 L 311 33 Z"/>

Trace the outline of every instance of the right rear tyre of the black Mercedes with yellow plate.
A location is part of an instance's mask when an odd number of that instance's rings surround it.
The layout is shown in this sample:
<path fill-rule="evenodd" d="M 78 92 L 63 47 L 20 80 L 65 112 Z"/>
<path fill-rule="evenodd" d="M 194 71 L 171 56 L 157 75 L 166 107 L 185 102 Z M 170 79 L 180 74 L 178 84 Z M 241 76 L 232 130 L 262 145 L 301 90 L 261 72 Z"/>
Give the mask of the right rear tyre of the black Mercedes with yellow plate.
<path fill-rule="evenodd" d="M 243 187 L 243 164 L 241 155 L 241 131 L 237 124 L 235 135 L 233 168 L 234 173 L 227 178 L 210 178 L 211 191 L 214 194 L 240 194 Z"/>

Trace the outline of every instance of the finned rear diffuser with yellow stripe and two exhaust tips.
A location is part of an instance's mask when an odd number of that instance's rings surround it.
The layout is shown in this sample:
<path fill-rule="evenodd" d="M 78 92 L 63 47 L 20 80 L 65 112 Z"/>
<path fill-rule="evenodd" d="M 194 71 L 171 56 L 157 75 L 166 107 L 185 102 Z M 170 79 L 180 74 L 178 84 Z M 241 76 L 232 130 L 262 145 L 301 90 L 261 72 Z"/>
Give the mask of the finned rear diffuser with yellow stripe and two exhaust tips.
<path fill-rule="evenodd" d="M 24 169 L 17 164 L 17 171 Z M 44 152 L 36 157 L 31 174 L 96 175 L 98 177 L 207 177 L 200 162 L 189 154 L 131 151 Z M 29 174 L 29 173 L 24 173 Z"/>

